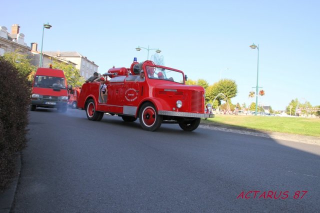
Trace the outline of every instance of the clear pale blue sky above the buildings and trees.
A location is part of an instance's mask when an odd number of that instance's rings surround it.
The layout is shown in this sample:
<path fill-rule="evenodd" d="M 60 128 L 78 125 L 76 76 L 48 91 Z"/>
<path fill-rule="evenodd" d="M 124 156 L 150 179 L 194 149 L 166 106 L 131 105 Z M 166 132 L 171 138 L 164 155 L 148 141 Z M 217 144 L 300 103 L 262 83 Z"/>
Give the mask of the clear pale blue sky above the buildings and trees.
<path fill-rule="evenodd" d="M 318 0 L 92 0 L 1 3 L 0 25 L 19 24 L 25 42 L 38 43 L 42 24 L 43 51 L 78 51 L 99 72 L 112 65 L 129 67 L 159 48 L 164 64 L 190 79 L 235 80 L 232 102 L 255 102 L 259 44 L 259 103 L 284 109 L 291 99 L 320 104 L 320 1 Z M 149 55 L 154 54 L 149 51 Z M 229 68 L 229 69 L 226 69 Z"/>

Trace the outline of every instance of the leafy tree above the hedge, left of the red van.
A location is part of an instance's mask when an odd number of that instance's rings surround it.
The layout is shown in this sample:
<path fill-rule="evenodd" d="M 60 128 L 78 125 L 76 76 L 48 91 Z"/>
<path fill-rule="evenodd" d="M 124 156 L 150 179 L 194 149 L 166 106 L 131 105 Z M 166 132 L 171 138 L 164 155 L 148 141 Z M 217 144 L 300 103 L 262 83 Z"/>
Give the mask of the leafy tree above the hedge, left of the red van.
<path fill-rule="evenodd" d="M 36 67 L 30 63 L 27 54 L 20 54 L 17 51 L 5 52 L 3 57 L 11 63 L 21 75 L 27 76 L 29 81 L 32 80 Z"/>

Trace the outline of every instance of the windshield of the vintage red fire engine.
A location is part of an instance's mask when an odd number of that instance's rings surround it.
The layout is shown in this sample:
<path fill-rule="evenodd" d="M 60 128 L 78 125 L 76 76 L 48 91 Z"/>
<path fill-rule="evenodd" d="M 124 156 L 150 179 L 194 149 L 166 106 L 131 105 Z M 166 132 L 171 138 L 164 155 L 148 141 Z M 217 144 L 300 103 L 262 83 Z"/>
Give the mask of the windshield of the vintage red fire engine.
<path fill-rule="evenodd" d="M 151 79 L 169 80 L 183 84 L 183 74 L 175 70 L 146 66 L 146 72 L 148 78 Z"/>

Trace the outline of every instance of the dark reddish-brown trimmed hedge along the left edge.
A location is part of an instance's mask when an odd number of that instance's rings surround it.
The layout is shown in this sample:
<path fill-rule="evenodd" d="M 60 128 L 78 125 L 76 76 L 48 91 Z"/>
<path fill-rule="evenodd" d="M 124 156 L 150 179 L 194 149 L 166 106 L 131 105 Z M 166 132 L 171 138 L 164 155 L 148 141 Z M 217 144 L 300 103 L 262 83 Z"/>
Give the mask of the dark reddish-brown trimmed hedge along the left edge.
<path fill-rule="evenodd" d="M 27 76 L 0 56 L 0 192 L 14 177 L 16 153 L 26 147 L 30 86 Z"/>

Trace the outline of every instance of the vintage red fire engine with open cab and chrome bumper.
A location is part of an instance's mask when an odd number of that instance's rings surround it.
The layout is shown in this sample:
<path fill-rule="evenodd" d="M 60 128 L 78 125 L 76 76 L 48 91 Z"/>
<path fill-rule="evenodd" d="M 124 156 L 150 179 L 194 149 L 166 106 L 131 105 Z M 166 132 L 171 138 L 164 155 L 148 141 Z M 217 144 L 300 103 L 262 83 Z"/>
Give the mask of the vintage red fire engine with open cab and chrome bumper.
<path fill-rule="evenodd" d="M 140 72 L 144 72 L 141 78 Z M 101 98 L 100 82 L 84 83 L 77 106 L 86 111 L 89 120 L 101 120 L 105 112 L 124 121 L 139 118 L 143 129 L 154 131 L 161 123 L 178 123 L 185 131 L 196 129 L 200 118 L 213 117 L 204 113 L 204 89 L 185 85 L 182 71 L 154 64 L 151 60 L 130 68 L 110 68 L 105 75 L 107 93 Z"/>

